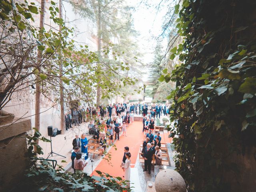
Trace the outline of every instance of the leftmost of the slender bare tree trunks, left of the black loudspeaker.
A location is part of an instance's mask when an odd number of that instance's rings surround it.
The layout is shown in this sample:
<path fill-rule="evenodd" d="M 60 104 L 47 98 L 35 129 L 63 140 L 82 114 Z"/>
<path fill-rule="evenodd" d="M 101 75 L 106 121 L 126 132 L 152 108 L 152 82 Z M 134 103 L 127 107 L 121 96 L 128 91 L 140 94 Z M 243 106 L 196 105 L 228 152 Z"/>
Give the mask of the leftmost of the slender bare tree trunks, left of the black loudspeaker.
<path fill-rule="evenodd" d="M 44 29 L 44 17 L 45 17 L 45 0 L 41 0 L 41 12 L 40 12 L 40 26 L 39 26 L 39 41 L 42 41 L 42 31 Z M 41 60 L 42 60 L 42 51 L 38 49 L 38 70 L 41 71 Z M 41 79 L 37 75 L 36 78 L 36 107 L 35 107 L 35 128 L 40 132 L 40 108 L 41 108 Z M 36 143 L 38 144 L 38 140 Z M 34 148 L 36 151 L 36 148 Z"/>

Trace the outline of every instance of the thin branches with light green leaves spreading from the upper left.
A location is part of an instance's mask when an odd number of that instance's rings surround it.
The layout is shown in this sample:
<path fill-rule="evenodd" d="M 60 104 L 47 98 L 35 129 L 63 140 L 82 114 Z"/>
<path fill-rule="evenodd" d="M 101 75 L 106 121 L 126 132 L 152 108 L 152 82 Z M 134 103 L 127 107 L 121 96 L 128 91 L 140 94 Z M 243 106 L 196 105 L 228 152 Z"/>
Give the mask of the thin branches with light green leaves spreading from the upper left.
<path fill-rule="evenodd" d="M 116 60 L 124 53 L 114 50 L 112 44 L 102 49 L 105 57 L 99 60 L 98 54 L 90 51 L 87 45 L 80 45 L 71 39 L 74 28 L 68 28 L 65 21 L 58 18 L 59 9 L 55 2 L 51 1 L 49 7 L 50 19 L 61 26 L 61 31 L 52 27 L 38 31 L 32 26 L 34 16 L 40 12 L 33 2 L 16 1 L 13 4 L 12 1 L 1 0 L 0 10 L 3 20 L 0 25 L 4 29 L 0 39 L 0 86 L 3 88 L 0 91 L 0 109 L 10 101 L 13 93 L 28 90 L 36 84 L 36 76 L 39 76 L 42 84 L 42 94 L 57 103 L 61 79 L 65 83 L 67 104 L 68 100 L 74 99 L 90 102 L 99 78 L 100 87 L 106 90 L 102 92 L 102 98 L 109 98 L 111 93 L 120 93 L 121 86 L 138 81 L 125 75 L 130 70 L 129 64 Z M 37 50 L 42 52 L 39 61 Z M 109 54 L 113 59 L 108 57 Z M 64 66 L 61 73 L 60 61 Z"/>

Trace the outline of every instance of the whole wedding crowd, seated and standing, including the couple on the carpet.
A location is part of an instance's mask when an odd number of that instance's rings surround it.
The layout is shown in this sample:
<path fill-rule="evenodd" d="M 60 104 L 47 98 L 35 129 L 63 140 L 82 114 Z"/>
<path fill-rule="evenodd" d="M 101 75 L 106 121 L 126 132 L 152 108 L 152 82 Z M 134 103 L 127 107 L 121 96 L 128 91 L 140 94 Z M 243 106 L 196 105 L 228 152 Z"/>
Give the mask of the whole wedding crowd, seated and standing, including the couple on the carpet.
<path fill-rule="evenodd" d="M 126 130 L 130 124 L 134 122 L 134 116 L 143 116 L 142 132 L 146 134 L 146 139 L 142 145 L 142 157 L 144 158 L 145 168 L 151 174 L 151 162 L 153 155 L 155 156 L 156 165 L 162 163 L 161 136 L 160 132 L 154 135 L 154 126 L 156 118 L 169 115 L 168 104 L 130 104 L 114 103 L 106 106 L 97 106 L 97 108 L 74 108 L 65 114 L 66 130 L 72 126 L 79 126 L 82 121 L 89 122 L 89 134 L 93 135 L 94 142 L 100 146 L 99 155 L 104 156 L 107 144 L 114 144 L 114 140 L 122 139 L 127 136 Z M 88 140 L 85 134 L 78 135 L 72 141 L 73 151 L 71 155 L 72 168 L 74 172 L 82 172 L 88 158 Z M 84 155 L 84 158 L 82 158 Z M 130 180 L 130 164 L 131 153 L 129 147 L 124 148 L 124 156 L 121 168 L 124 170 L 124 180 Z M 129 188 L 130 184 L 127 184 Z"/>

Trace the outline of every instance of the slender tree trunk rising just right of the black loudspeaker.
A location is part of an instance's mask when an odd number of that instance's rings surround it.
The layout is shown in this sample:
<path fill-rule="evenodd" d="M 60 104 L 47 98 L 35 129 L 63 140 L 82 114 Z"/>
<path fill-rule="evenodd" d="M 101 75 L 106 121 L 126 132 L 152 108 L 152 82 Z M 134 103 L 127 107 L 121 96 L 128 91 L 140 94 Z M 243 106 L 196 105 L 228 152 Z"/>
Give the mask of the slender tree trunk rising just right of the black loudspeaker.
<path fill-rule="evenodd" d="M 60 0 L 60 19 L 62 19 L 62 0 Z M 60 25 L 60 38 L 61 38 L 61 30 L 62 25 Z M 60 76 L 63 74 L 63 64 L 62 64 L 62 57 L 61 57 L 61 40 L 60 40 L 60 46 L 59 46 L 59 59 L 60 59 Z M 64 114 L 64 87 L 63 87 L 63 81 L 60 79 L 60 128 L 61 133 L 66 133 L 66 125 L 65 125 L 65 114 Z"/>

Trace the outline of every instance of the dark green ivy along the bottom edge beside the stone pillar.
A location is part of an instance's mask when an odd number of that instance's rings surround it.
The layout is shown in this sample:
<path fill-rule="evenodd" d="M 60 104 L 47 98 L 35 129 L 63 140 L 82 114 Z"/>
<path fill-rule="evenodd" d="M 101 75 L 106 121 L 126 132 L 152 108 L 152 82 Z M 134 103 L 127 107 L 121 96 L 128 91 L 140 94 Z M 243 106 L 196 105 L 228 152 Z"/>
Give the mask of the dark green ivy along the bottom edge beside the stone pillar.
<path fill-rule="evenodd" d="M 64 173 L 63 168 L 58 166 L 55 170 L 48 161 L 37 158 L 36 154 L 43 154 L 42 148 L 36 144 L 36 140 L 49 142 L 34 129 L 34 135 L 27 135 L 28 151 L 26 156 L 29 158 L 29 168 L 25 171 L 24 179 L 21 180 L 16 189 L 27 192 L 36 191 L 123 191 L 126 182 L 120 177 L 112 177 L 109 174 L 97 171 L 99 176 L 90 176 L 86 173 Z M 34 151 L 36 148 L 36 151 Z M 128 191 L 130 191 L 128 189 Z"/>

